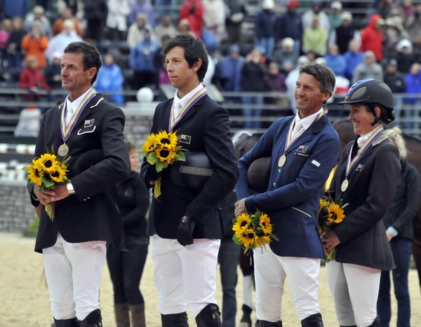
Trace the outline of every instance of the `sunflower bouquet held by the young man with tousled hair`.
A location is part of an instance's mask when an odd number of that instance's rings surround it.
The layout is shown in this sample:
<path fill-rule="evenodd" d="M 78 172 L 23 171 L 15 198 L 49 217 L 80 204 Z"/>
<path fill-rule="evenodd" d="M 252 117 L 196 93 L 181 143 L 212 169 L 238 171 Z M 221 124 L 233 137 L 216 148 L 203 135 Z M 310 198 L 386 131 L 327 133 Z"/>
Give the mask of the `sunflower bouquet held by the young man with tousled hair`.
<path fill-rule="evenodd" d="M 142 151 L 147 162 L 155 165 L 156 172 L 161 172 L 175 161 L 186 160 L 179 139 L 180 137 L 174 132 L 168 133 L 164 130 L 147 136 L 145 143 L 142 144 Z M 159 195 L 161 195 L 161 178 L 154 181 L 154 197 L 157 199 Z"/>

